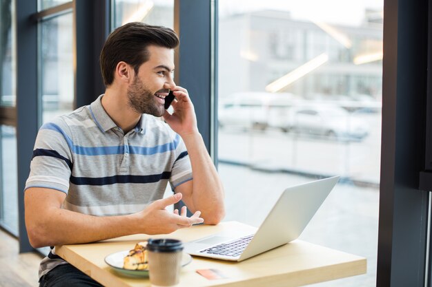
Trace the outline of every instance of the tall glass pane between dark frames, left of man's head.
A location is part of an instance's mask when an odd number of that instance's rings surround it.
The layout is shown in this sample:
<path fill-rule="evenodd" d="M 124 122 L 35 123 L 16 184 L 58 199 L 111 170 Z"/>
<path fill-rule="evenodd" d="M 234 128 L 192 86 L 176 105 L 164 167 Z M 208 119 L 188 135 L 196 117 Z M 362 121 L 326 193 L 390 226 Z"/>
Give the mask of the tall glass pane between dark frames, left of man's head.
<path fill-rule="evenodd" d="M 41 29 L 42 121 L 73 109 L 72 14 L 43 21 Z"/>

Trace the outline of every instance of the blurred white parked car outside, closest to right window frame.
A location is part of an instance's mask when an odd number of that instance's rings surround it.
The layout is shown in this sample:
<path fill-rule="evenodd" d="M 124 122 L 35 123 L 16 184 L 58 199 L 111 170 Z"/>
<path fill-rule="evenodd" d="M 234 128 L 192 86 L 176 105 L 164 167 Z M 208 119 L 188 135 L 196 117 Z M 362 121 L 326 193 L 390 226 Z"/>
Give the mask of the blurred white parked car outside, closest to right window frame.
<path fill-rule="evenodd" d="M 281 129 L 335 139 L 361 140 L 369 134 L 364 120 L 336 105 L 292 107 Z"/>

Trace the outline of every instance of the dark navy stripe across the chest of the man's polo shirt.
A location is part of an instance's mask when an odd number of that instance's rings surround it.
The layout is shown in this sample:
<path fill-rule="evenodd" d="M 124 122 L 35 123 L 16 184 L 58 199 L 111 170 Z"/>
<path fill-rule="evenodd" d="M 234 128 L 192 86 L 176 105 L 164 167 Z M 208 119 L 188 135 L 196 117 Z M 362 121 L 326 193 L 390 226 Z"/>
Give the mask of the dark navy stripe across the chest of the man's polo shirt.
<path fill-rule="evenodd" d="M 159 174 L 152 174 L 148 176 L 107 176 L 105 178 L 77 178 L 70 177 L 70 182 L 75 185 L 108 185 L 117 183 L 151 183 L 158 182 L 159 180 L 168 180 L 171 176 L 170 171 L 164 171 Z"/>

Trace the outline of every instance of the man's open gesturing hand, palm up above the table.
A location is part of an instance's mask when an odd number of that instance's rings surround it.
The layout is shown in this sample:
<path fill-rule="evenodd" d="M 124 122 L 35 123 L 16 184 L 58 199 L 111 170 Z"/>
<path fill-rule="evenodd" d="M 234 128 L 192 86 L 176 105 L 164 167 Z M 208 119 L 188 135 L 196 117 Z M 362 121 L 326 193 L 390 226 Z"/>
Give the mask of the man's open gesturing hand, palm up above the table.
<path fill-rule="evenodd" d="M 174 213 L 166 210 L 166 206 L 175 204 L 181 200 L 181 193 L 176 193 L 168 198 L 156 200 L 144 211 L 141 211 L 141 226 L 146 234 L 172 233 L 179 228 L 190 227 L 193 224 L 204 222 L 200 211 L 195 212 L 191 217 L 186 216 L 186 206 L 181 209 L 181 214 L 177 209 Z"/>

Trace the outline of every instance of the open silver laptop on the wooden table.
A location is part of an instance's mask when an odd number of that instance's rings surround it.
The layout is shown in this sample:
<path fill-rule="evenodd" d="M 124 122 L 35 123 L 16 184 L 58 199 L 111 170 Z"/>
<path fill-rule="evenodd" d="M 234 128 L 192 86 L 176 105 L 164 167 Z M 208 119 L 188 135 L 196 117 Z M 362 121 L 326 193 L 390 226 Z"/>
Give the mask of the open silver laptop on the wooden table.
<path fill-rule="evenodd" d="M 254 234 L 216 233 L 184 243 L 190 255 L 242 261 L 297 239 L 339 176 L 288 187 Z"/>

